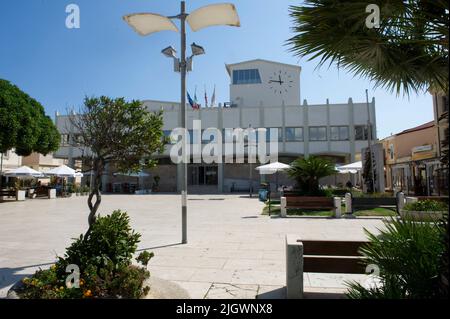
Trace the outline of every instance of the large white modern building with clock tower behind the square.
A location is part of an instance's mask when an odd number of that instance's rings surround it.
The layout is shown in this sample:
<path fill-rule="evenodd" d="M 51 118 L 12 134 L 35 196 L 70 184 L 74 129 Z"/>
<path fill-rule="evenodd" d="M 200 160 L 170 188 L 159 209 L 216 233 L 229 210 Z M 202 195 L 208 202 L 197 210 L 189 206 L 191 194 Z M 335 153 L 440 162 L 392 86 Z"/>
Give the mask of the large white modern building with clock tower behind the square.
<path fill-rule="evenodd" d="M 227 64 L 230 76 L 230 102 L 217 107 L 192 109 L 187 107 L 187 126 L 192 130 L 193 121 L 200 120 L 202 128 L 275 128 L 278 132 L 278 160 L 290 163 L 299 156 L 320 155 L 345 164 L 360 159 L 361 149 L 367 146 L 367 123 L 372 124 L 372 138 L 376 139 L 375 100 L 367 105 L 346 103 L 309 105 L 301 102 L 300 73 L 295 65 L 266 60 L 251 60 Z M 144 101 L 149 111 L 163 110 L 164 133 L 181 126 L 180 104 L 167 101 Z M 62 134 L 62 145 L 55 156 L 73 162 L 83 156 L 85 150 L 70 146 L 68 116 L 57 115 L 56 124 Z M 204 141 L 206 145 L 208 141 Z M 181 166 L 169 158 L 167 145 L 158 167 L 151 171 L 159 176 L 159 188 L 165 192 L 180 189 L 178 178 Z M 213 163 L 189 164 L 188 185 L 192 192 L 230 192 L 249 188 L 252 175 L 253 187 L 260 182 L 254 170 L 257 164 Z M 112 170 L 104 176 L 104 191 L 117 189 L 123 178 L 114 177 Z M 292 183 L 280 180 L 281 183 Z M 151 179 L 147 181 L 151 185 Z M 145 184 L 145 182 L 144 182 Z"/>

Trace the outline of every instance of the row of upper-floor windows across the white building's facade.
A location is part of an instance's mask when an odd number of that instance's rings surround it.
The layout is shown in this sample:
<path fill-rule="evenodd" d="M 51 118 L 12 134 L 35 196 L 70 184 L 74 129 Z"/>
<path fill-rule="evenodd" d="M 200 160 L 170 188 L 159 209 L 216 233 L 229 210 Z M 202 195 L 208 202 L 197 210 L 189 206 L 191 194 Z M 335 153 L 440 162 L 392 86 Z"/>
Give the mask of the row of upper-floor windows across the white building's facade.
<path fill-rule="evenodd" d="M 303 127 L 286 127 L 284 134 L 283 129 L 278 127 L 278 141 L 283 142 L 283 138 L 285 138 L 286 142 L 303 142 Z M 188 130 L 190 135 L 190 143 L 194 143 L 194 134 L 192 130 Z M 164 136 L 170 137 L 171 131 L 164 131 Z M 232 131 L 222 132 L 224 139 L 227 137 L 231 138 Z M 230 135 L 230 136 L 227 136 Z M 258 141 L 258 134 L 256 135 L 256 141 Z M 368 130 L 365 125 L 355 126 L 355 140 L 364 141 L 368 139 Z M 373 136 L 373 134 L 372 134 Z M 348 141 L 350 139 L 349 136 L 349 127 L 348 126 L 331 126 L 330 127 L 330 140 L 331 141 Z M 203 137 L 202 130 L 202 143 L 209 143 L 212 140 L 212 137 Z M 266 140 L 271 140 L 270 130 L 266 130 Z M 309 127 L 309 140 L 310 141 L 327 141 L 327 127 L 326 126 L 311 126 Z M 174 144 L 176 141 L 171 141 L 171 144 Z"/>

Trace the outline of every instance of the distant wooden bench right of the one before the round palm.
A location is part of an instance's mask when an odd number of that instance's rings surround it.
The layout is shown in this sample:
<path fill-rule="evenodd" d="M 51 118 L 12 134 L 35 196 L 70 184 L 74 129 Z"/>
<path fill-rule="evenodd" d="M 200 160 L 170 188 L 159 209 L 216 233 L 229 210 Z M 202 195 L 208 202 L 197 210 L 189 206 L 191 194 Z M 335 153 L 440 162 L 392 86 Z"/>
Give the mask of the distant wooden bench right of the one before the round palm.
<path fill-rule="evenodd" d="M 353 197 L 345 195 L 345 213 L 353 214 L 356 210 L 386 208 L 399 213 L 398 197 Z"/>

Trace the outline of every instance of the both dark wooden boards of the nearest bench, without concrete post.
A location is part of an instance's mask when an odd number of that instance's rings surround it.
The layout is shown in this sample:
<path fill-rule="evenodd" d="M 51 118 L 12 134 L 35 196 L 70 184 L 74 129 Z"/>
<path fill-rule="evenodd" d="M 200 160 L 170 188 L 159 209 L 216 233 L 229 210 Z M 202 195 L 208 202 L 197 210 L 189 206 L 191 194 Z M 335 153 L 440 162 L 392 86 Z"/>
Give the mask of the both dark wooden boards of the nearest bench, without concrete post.
<path fill-rule="evenodd" d="M 364 274 L 366 265 L 359 249 L 367 241 L 302 240 L 303 271 Z"/>

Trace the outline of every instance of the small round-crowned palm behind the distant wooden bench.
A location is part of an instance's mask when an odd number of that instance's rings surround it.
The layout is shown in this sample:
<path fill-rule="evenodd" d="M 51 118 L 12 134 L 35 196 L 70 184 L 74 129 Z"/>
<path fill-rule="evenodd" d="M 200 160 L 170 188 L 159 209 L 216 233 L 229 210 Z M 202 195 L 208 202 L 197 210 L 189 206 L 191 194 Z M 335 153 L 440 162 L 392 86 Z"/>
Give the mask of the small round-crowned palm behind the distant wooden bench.
<path fill-rule="evenodd" d="M 291 168 L 287 170 L 287 174 L 295 179 L 297 187 L 302 193 L 308 195 L 319 194 L 319 180 L 335 173 L 333 163 L 317 156 L 298 158 L 291 163 Z"/>

